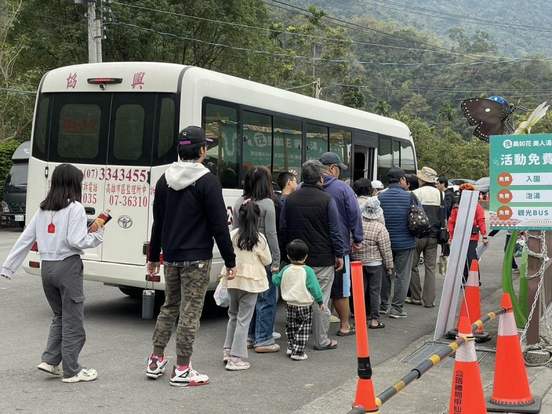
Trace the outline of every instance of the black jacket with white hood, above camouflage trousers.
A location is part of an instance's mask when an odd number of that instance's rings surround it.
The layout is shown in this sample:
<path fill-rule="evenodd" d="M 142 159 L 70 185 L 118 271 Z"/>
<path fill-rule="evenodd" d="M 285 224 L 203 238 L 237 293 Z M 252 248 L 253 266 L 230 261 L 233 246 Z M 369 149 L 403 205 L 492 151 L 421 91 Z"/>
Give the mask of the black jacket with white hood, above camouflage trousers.
<path fill-rule="evenodd" d="M 155 186 L 150 262 L 159 262 L 161 248 L 166 262 L 213 259 L 214 237 L 225 266 L 235 267 L 228 215 L 217 177 L 202 172 L 197 180 L 177 183 L 171 188 L 166 178 L 169 173 L 167 170 L 161 175 Z M 186 171 L 178 173 L 171 175 L 175 177 L 173 180 L 186 175 Z"/>

